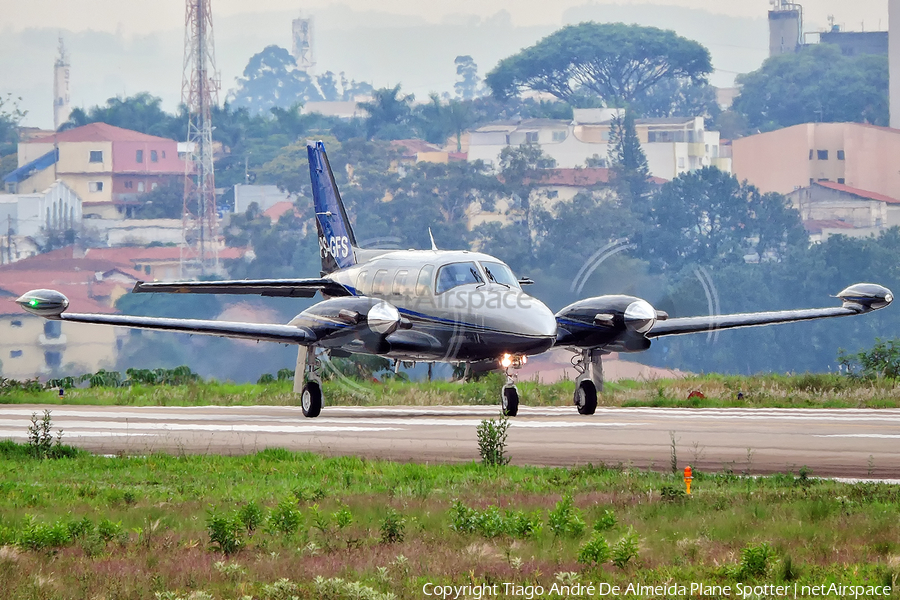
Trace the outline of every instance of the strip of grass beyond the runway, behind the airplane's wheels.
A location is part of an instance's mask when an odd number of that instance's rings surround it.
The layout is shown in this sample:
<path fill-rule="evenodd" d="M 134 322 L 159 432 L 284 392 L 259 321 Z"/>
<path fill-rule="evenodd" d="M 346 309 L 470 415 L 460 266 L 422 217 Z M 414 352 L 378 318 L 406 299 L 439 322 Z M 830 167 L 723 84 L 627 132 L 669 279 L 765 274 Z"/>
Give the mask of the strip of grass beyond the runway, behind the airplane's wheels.
<path fill-rule="evenodd" d="M 478 381 L 384 382 L 341 378 L 325 382 L 326 404 L 436 406 L 495 404 L 503 381 L 490 374 Z M 574 383 L 519 382 L 522 403 L 529 406 L 569 406 Z M 86 387 L 66 391 L 0 389 L 0 403 L 107 404 L 131 406 L 292 405 L 297 403 L 291 381 L 234 384 L 216 381 L 187 385 Z M 688 396 L 699 391 L 704 397 Z M 602 406 L 896 408 L 900 384 L 892 379 L 851 379 L 838 374 L 724 376 L 607 382 Z"/>

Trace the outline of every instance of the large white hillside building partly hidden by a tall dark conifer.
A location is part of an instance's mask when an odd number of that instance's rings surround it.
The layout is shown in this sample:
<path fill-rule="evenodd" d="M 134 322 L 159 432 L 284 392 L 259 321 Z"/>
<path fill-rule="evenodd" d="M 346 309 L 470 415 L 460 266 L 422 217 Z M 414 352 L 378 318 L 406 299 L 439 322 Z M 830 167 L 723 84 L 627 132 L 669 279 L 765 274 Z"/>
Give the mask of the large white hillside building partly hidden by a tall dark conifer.
<path fill-rule="evenodd" d="M 574 119 L 524 119 L 490 123 L 472 131 L 468 159 L 483 160 L 497 167 L 507 146 L 537 144 L 564 169 L 608 166 L 611 121 L 616 109 L 575 109 Z M 650 174 L 674 179 L 681 173 L 715 166 L 730 173 L 731 158 L 719 144 L 719 132 L 707 131 L 703 117 L 637 119 L 638 139 Z"/>

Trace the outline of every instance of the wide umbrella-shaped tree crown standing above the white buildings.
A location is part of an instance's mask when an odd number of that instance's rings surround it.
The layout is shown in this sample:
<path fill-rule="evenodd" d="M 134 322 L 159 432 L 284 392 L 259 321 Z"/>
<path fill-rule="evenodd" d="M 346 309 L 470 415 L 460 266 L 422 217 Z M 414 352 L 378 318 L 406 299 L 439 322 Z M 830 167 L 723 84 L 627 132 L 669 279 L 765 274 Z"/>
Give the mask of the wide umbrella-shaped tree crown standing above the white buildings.
<path fill-rule="evenodd" d="M 702 81 L 711 71 L 709 51 L 672 31 L 587 22 L 501 60 L 486 82 L 498 98 L 528 89 L 570 104 L 593 97 L 623 106 L 665 79 Z"/>

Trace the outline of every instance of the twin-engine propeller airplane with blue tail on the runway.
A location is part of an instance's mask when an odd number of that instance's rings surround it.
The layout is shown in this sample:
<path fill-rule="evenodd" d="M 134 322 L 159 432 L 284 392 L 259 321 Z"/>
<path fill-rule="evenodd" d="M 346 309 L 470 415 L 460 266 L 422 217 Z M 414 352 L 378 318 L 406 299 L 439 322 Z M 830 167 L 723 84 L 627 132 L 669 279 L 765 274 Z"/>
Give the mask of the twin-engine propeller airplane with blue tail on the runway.
<path fill-rule="evenodd" d="M 500 368 L 505 415 L 519 408 L 515 369 L 528 356 L 553 347 L 572 350 L 574 404 L 594 414 L 603 389 L 602 356 L 641 352 L 653 339 L 718 329 L 753 327 L 861 315 L 888 306 L 891 291 L 857 283 L 837 294 L 841 306 L 773 312 L 670 318 L 649 302 L 627 295 L 586 298 L 555 315 L 501 260 L 481 252 L 384 250 L 359 247 L 334 181 L 324 144 L 307 143 L 322 271 L 319 278 L 232 281 L 137 282 L 133 293 L 254 294 L 324 300 L 286 325 L 65 312 L 68 299 L 33 290 L 16 300 L 47 319 L 206 334 L 296 344 L 294 392 L 303 415 L 322 410 L 322 362 L 317 353 L 375 354 L 395 361 L 464 363 Z"/>

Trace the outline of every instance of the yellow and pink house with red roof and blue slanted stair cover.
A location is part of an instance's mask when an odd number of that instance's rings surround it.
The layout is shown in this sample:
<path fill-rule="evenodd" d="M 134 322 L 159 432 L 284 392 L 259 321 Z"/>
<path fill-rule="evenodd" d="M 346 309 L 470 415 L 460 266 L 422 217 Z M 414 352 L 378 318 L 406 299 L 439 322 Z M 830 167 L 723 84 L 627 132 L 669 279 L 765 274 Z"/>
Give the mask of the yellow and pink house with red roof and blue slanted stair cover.
<path fill-rule="evenodd" d="M 19 143 L 19 167 L 4 177 L 7 193 L 29 194 L 62 180 L 83 201 L 85 216 L 130 216 L 137 198 L 184 177 L 178 142 L 106 123 L 91 123 Z"/>

